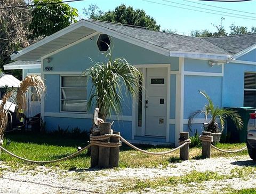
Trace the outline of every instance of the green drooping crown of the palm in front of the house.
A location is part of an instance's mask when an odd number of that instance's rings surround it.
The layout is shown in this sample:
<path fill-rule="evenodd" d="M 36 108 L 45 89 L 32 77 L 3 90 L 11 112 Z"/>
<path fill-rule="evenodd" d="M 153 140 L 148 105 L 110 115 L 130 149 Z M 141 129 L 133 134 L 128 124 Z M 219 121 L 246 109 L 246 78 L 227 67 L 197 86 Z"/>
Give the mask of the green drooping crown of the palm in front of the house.
<path fill-rule="evenodd" d="M 142 82 L 141 72 L 124 58 L 112 59 L 111 51 L 104 54 L 106 54 L 105 62 L 97 62 L 83 72 L 83 75 L 90 77 L 93 83 L 87 109 L 90 109 L 96 101 L 99 117 L 103 120 L 111 116 L 111 111 L 116 115 L 121 112 L 123 88 L 127 95 L 135 96 Z"/>

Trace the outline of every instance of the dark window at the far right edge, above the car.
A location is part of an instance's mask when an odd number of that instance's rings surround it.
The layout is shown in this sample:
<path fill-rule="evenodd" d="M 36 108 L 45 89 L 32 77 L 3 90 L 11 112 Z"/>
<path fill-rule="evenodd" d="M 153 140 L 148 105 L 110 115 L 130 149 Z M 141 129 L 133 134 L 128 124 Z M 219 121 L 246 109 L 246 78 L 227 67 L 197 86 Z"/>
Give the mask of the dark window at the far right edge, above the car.
<path fill-rule="evenodd" d="M 244 107 L 256 107 L 256 72 L 244 73 Z"/>

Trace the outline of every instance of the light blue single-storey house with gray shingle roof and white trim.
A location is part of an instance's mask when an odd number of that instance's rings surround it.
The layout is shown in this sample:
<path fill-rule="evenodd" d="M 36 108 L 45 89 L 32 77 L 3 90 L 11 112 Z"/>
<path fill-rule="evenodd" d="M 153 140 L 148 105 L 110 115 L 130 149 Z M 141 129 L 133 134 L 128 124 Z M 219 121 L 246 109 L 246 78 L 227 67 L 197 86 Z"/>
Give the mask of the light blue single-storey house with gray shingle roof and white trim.
<path fill-rule="evenodd" d="M 90 58 L 105 60 L 104 42 L 144 76 L 140 100 L 127 97 L 122 115 L 111 116 L 113 128 L 128 140 L 178 145 L 179 132 L 188 131 L 189 115 L 204 106 L 198 90 L 220 107 L 256 107 L 256 34 L 195 38 L 81 20 L 11 55 L 41 65 L 5 66 L 22 68 L 24 76 L 39 73 L 45 80 L 41 116 L 46 130 L 92 126 L 92 114 L 85 109 L 91 84 L 81 73 L 92 65 Z M 194 119 L 193 128 L 201 132 L 204 122 Z"/>

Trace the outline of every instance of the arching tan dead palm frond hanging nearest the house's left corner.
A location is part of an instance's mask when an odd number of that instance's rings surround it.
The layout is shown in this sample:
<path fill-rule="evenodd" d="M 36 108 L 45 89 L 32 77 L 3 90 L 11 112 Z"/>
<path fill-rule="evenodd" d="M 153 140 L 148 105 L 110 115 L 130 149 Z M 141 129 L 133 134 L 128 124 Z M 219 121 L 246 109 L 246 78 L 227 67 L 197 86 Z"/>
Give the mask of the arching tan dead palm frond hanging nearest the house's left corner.
<path fill-rule="evenodd" d="M 42 94 L 45 92 L 45 85 L 40 76 L 29 75 L 25 77 L 25 79 L 23 79 L 20 83 L 20 88 L 18 89 L 16 97 L 19 110 L 25 111 L 27 108 L 26 92 L 28 92 L 30 86 L 35 88 L 35 92 L 37 93 L 39 99 L 42 98 Z"/>

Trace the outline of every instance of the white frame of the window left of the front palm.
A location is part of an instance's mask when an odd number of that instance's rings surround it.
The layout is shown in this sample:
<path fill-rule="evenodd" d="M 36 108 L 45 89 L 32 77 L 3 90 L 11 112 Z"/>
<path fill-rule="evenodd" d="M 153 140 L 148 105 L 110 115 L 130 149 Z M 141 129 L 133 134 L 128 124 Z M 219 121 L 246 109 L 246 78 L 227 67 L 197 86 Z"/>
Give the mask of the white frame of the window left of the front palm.
<path fill-rule="evenodd" d="M 85 77 L 85 79 L 86 79 L 86 87 L 62 87 L 62 77 Z M 86 100 L 65 100 L 65 99 L 62 99 L 61 98 L 61 94 L 62 94 L 62 92 L 61 92 L 61 90 L 62 89 L 65 89 L 65 88 L 70 88 L 70 89 L 74 89 L 74 88 L 82 88 L 82 89 L 85 89 L 86 90 Z M 87 104 L 87 77 L 86 76 L 81 76 L 81 75 L 77 75 L 77 74 L 68 74 L 68 75 L 60 75 L 60 98 L 59 98 L 59 101 L 60 101 L 60 113 L 74 113 L 74 114 L 87 114 L 87 111 L 85 111 L 85 112 L 83 112 L 83 111 L 67 111 L 67 110 L 61 110 L 61 102 L 62 101 L 84 101 L 84 102 L 86 102 L 86 104 Z"/>

